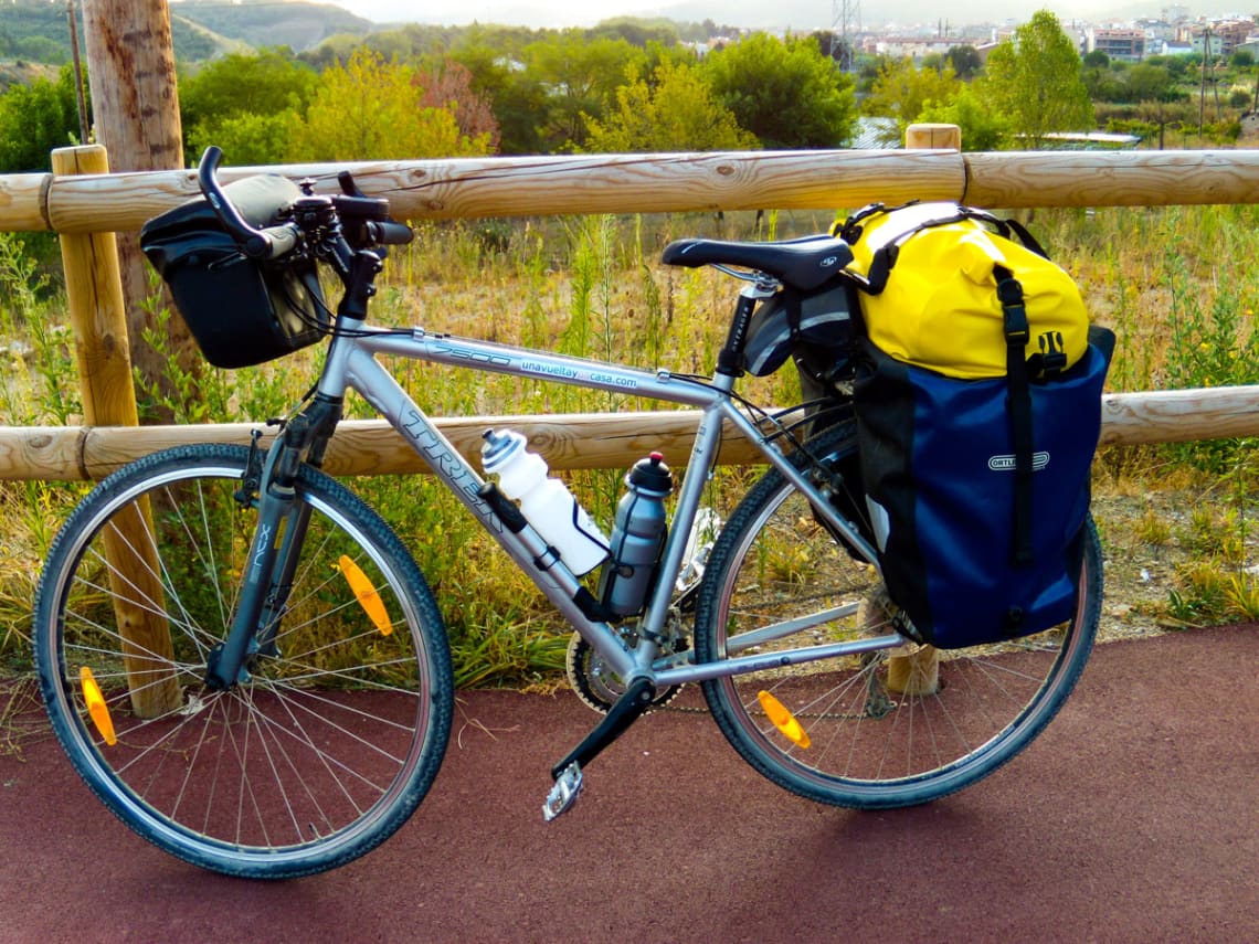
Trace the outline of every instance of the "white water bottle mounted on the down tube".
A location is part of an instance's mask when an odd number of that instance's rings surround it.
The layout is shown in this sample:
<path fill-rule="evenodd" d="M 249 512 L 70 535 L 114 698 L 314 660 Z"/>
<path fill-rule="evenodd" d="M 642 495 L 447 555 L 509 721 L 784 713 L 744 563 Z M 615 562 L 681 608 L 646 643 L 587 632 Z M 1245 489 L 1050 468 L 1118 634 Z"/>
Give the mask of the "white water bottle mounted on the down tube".
<path fill-rule="evenodd" d="M 499 477 L 499 488 L 515 502 L 534 530 L 577 576 L 594 570 L 608 556 L 608 539 L 577 498 L 546 472 L 546 459 L 525 449 L 525 437 L 511 429 L 485 432 L 481 466 Z"/>

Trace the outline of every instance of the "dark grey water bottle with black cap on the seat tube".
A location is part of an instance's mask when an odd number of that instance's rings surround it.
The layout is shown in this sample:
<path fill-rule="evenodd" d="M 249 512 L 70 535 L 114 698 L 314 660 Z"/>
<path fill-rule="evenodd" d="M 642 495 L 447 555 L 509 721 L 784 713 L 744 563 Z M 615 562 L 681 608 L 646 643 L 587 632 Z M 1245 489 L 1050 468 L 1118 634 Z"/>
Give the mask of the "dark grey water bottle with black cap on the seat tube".
<path fill-rule="evenodd" d="M 665 498 L 672 491 L 674 476 L 658 452 L 636 462 L 626 476 L 612 530 L 612 558 L 599 575 L 599 599 L 618 617 L 640 613 L 655 583 L 667 534 Z"/>

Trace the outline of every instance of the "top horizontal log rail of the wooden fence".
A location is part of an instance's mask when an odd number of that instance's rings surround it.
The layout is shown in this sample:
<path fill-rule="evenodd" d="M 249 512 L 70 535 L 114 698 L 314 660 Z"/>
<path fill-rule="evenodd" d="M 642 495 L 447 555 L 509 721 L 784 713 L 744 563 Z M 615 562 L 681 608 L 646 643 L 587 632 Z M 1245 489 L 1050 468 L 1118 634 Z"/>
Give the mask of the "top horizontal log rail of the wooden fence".
<path fill-rule="evenodd" d="M 230 155 L 229 155 L 230 156 Z M 336 190 L 349 169 L 399 218 L 833 209 L 959 200 L 976 206 L 1259 203 L 1259 151 L 951 150 L 559 155 L 224 167 Z M 0 175 L 0 229 L 135 230 L 198 194 L 193 171 Z"/>

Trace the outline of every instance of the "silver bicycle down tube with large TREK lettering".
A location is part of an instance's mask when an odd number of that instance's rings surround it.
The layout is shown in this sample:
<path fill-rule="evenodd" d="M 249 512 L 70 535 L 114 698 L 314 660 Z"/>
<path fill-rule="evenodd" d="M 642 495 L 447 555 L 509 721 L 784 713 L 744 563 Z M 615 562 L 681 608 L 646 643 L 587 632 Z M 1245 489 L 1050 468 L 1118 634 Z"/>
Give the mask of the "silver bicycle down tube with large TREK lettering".
<path fill-rule="evenodd" d="M 543 569 L 534 561 L 524 540 L 507 530 L 490 505 L 481 497 L 485 481 L 476 469 L 451 444 L 427 415 L 415 405 L 398 381 L 389 375 L 370 354 L 358 349 L 346 361 L 346 380 L 380 414 L 389 420 L 407 443 L 429 464 L 433 473 L 454 492 L 476 515 L 481 525 L 494 536 L 516 565 L 530 575 L 546 599 L 589 642 L 604 653 L 616 672 L 630 672 L 633 667 L 624 644 L 606 623 L 589 619 L 578 605 L 574 592 L 580 588 L 577 578 L 556 561 Z M 611 643 L 611 644 L 609 644 Z"/>

